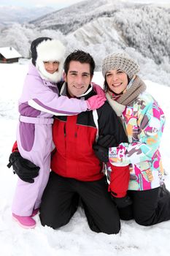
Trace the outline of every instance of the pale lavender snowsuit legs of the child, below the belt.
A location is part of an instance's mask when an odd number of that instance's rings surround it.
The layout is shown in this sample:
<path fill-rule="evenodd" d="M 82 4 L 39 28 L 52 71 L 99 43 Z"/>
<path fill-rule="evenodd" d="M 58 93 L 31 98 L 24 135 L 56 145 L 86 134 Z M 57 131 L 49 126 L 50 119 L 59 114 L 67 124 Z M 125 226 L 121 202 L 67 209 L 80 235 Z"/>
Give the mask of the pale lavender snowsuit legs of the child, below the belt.
<path fill-rule="evenodd" d="M 34 206 L 39 207 L 40 197 L 45 189 L 50 173 L 50 152 L 52 149 L 52 133 L 49 125 L 35 125 L 34 146 L 31 151 L 25 151 L 18 135 L 18 149 L 20 154 L 40 167 L 39 176 L 30 184 L 18 179 L 12 212 L 19 216 L 31 216 Z M 40 193 L 40 194 L 39 194 Z M 36 203 L 37 201 L 37 203 Z"/>

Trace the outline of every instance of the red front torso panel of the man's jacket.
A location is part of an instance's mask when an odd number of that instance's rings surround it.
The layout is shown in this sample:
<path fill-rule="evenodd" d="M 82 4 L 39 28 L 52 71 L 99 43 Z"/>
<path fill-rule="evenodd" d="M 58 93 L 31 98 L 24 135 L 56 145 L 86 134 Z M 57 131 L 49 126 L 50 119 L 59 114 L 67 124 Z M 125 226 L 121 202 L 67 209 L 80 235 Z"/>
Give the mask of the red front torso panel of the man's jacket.
<path fill-rule="evenodd" d="M 91 116 L 91 113 L 82 115 Z M 63 119 L 58 117 L 53 124 L 53 141 L 57 151 L 53 154 L 51 169 L 58 175 L 80 181 L 101 179 L 104 176 L 102 166 L 93 151 L 96 127 L 79 124 L 77 116 Z"/>

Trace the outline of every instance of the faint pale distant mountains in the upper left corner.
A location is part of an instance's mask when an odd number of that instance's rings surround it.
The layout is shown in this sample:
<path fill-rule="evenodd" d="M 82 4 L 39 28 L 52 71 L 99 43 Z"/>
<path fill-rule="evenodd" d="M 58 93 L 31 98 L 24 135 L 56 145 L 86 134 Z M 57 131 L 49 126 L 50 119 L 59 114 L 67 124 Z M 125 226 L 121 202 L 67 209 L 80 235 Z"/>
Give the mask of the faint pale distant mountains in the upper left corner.
<path fill-rule="evenodd" d="M 0 26 L 9 26 L 12 23 L 24 23 L 34 20 L 49 12 L 53 12 L 53 7 L 15 7 L 15 6 L 2 6 L 0 5 Z"/>

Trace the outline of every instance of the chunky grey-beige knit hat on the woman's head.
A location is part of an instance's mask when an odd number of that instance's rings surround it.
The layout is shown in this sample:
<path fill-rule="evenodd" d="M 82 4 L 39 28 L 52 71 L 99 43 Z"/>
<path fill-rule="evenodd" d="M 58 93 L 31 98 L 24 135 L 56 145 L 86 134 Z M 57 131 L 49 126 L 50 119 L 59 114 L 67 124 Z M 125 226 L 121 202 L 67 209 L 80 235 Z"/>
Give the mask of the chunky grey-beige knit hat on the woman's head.
<path fill-rule="evenodd" d="M 139 72 L 139 65 L 127 53 L 112 53 L 106 56 L 102 62 L 102 74 L 104 78 L 106 72 L 112 69 L 122 70 L 131 79 Z"/>

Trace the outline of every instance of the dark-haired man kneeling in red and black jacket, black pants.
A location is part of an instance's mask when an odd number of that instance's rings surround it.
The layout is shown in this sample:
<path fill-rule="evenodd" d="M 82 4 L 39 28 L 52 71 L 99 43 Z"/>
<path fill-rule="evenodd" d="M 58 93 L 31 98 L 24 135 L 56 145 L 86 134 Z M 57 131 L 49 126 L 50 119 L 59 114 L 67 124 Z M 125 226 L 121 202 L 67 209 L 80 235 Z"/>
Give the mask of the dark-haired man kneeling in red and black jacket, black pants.
<path fill-rule="evenodd" d="M 61 94 L 80 99 L 96 94 L 91 83 L 94 68 L 89 53 L 82 50 L 71 53 L 64 63 L 65 83 Z M 114 135 L 116 143 L 127 141 L 122 124 L 107 102 L 98 110 L 55 117 L 56 150 L 42 196 L 39 215 L 42 225 L 54 229 L 66 225 L 81 200 L 91 230 L 107 234 L 119 232 L 120 218 L 107 192 L 103 164 L 93 151 L 98 135 Z"/>

